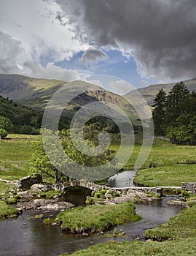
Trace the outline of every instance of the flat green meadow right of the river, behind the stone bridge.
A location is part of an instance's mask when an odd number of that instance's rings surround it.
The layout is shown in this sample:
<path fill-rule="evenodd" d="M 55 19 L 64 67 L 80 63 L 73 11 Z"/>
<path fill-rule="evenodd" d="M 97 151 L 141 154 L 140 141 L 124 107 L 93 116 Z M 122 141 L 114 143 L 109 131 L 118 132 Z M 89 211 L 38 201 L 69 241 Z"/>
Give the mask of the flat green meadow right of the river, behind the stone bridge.
<path fill-rule="evenodd" d="M 115 140 L 111 148 L 119 148 Z M 137 139 L 133 154 L 125 170 L 133 170 L 141 149 L 141 140 Z M 136 173 L 134 181 L 148 187 L 181 186 L 181 182 L 196 182 L 196 146 L 176 146 L 166 140 L 155 139 L 148 159 Z"/>

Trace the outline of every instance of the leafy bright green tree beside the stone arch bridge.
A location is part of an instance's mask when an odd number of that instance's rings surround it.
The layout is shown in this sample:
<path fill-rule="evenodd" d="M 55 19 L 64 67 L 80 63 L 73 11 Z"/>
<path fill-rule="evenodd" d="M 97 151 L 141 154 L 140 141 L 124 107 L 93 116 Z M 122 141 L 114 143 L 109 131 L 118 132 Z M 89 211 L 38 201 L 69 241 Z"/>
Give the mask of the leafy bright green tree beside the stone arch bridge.
<path fill-rule="evenodd" d="M 114 157 L 114 151 L 107 149 L 103 154 L 98 157 L 91 157 L 86 154 L 82 154 L 82 152 L 78 151 L 77 148 L 74 147 L 72 140 L 71 140 L 71 132 L 70 129 L 65 130 L 63 129 L 61 132 L 58 132 L 58 136 L 60 138 L 63 150 L 66 152 L 67 158 L 63 155 L 59 154 L 58 149 L 56 147 L 56 141 L 52 139 L 50 136 L 52 134 L 51 130 L 44 129 L 44 132 L 47 132 L 48 140 L 47 140 L 47 148 L 52 151 L 52 154 L 55 156 L 55 166 L 52 165 L 50 159 L 47 157 L 47 154 L 44 151 L 44 146 L 42 142 L 42 137 L 39 137 L 34 141 L 34 148 L 35 152 L 31 157 L 30 162 L 30 173 L 31 175 L 41 174 L 42 178 L 52 178 L 55 183 L 60 181 L 68 180 L 71 177 L 66 177 L 62 173 L 58 171 L 58 167 L 65 167 L 70 161 L 71 158 L 74 162 L 79 163 L 79 165 L 84 166 L 97 166 L 102 165 L 103 163 L 111 160 Z M 77 132 L 77 131 L 76 131 Z M 88 138 L 90 139 L 90 138 Z M 85 140 L 88 145 L 93 146 L 95 145 L 95 140 L 93 141 Z M 55 151 L 56 150 L 56 151 Z"/>

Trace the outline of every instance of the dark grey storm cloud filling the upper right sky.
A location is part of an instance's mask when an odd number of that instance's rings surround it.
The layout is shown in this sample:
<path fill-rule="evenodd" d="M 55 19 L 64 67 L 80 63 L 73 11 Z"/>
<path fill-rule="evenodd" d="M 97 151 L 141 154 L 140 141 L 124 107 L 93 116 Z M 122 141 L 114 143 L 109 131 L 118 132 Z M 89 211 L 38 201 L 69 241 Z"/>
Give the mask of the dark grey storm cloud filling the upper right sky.
<path fill-rule="evenodd" d="M 195 0 L 56 1 L 81 38 L 131 53 L 142 75 L 195 76 Z"/>

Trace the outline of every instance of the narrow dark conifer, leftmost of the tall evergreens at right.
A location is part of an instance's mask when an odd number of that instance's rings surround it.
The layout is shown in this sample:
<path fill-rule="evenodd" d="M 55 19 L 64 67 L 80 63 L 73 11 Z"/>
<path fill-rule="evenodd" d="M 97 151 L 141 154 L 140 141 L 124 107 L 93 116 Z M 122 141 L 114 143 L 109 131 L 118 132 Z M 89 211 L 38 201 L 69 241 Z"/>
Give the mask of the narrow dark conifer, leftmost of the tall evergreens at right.
<path fill-rule="evenodd" d="M 152 110 L 152 118 L 154 121 L 154 132 L 156 135 L 164 135 L 164 122 L 165 122 L 165 102 L 166 102 L 166 93 L 162 89 L 158 92 L 154 99 L 154 108 Z"/>

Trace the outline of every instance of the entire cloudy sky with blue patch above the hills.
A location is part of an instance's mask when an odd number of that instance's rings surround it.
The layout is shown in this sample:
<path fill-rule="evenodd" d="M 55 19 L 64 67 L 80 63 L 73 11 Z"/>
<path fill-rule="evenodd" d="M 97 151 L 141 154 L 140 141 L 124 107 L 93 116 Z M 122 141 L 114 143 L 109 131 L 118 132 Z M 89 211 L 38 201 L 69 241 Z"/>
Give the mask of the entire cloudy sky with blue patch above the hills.
<path fill-rule="evenodd" d="M 195 0 L 0 0 L 0 73 L 135 88 L 196 77 Z"/>

